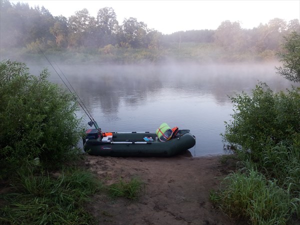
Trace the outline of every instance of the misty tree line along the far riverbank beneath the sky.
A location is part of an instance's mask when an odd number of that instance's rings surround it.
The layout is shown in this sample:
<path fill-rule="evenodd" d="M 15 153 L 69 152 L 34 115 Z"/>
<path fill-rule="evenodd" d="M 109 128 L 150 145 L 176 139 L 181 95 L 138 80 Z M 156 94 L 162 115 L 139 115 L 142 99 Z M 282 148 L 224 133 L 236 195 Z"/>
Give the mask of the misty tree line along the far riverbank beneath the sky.
<path fill-rule="evenodd" d="M 39 44 L 43 48 L 104 48 L 107 45 L 124 48 L 162 49 L 172 43 L 214 43 L 236 52 L 278 51 L 282 37 L 290 32 L 300 32 L 298 19 L 285 21 L 270 19 L 252 29 L 243 29 L 238 21 L 222 21 L 216 30 L 177 31 L 162 34 L 148 28 L 134 17 L 124 18 L 121 24 L 111 7 L 100 8 L 96 17 L 86 8 L 76 11 L 68 18 L 53 16 L 41 6 L 29 7 L 27 3 L 10 3 L 0 0 L 1 48 L 26 47 Z"/>

